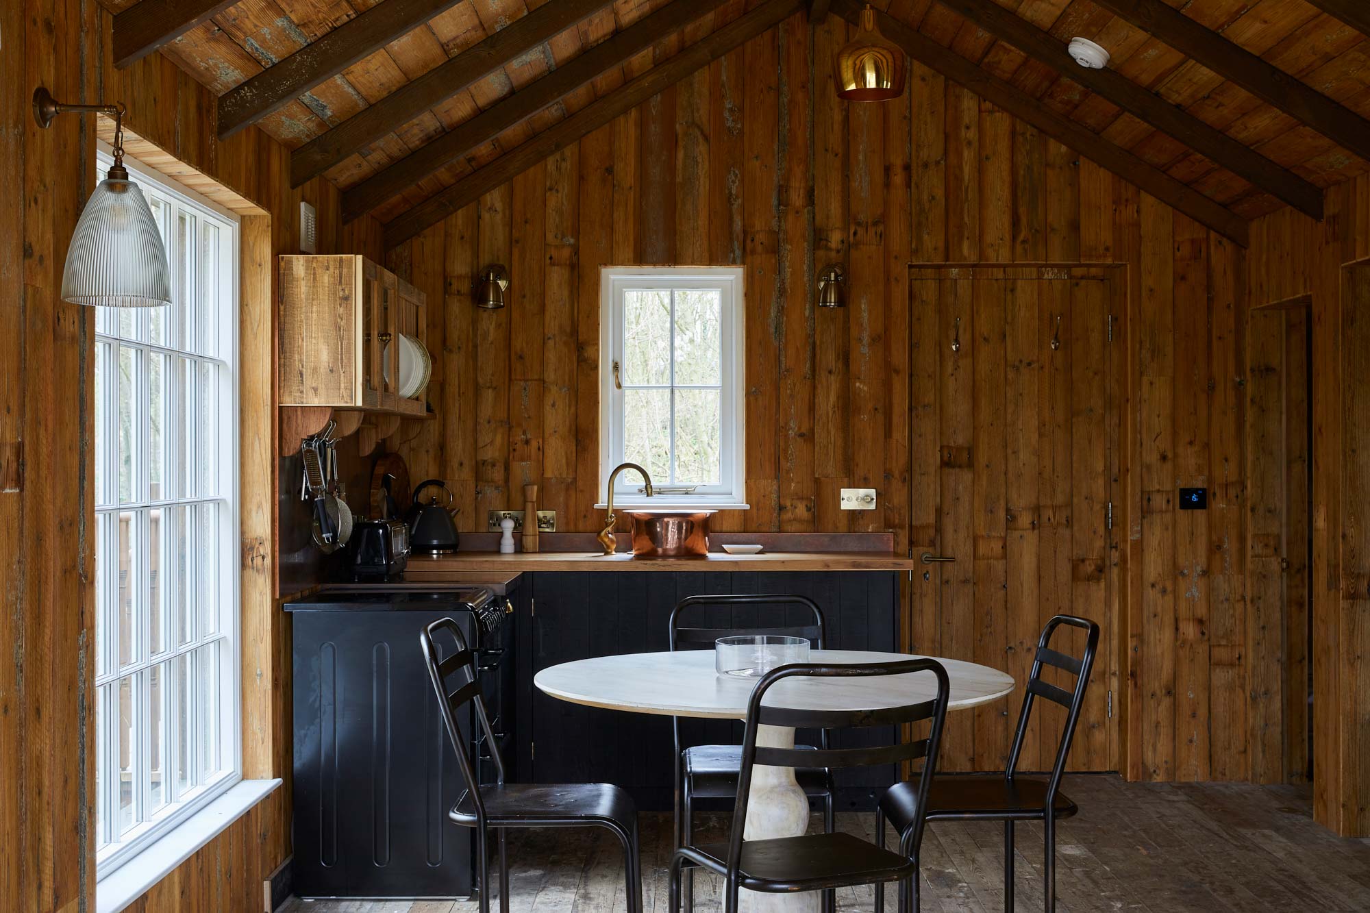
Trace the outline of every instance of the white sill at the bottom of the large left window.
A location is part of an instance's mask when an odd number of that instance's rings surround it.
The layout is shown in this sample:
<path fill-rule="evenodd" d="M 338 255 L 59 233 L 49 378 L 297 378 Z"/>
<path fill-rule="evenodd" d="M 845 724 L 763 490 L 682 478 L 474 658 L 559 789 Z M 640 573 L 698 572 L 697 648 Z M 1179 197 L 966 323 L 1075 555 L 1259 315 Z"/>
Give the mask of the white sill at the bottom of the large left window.
<path fill-rule="evenodd" d="M 96 913 L 119 913 L 170 875 L 248 809 L 271 795 L 281 780 L 242 780 L 204 806 L 164 838 L 100 879 L 95 888 Z"/>

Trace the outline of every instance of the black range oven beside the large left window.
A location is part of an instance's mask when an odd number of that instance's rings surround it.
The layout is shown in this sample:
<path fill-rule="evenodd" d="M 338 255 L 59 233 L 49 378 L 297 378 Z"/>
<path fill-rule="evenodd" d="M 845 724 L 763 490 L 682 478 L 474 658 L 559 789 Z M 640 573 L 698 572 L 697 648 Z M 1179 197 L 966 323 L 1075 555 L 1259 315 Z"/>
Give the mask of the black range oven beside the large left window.
<path fill-rule="evenodd" d="M 285 606 L 293 629 L 295 892 L 466 898 L 470 831 L 447 812 L 462 776 L 419 651 L 455 618 L 475 653 L 490 728 L 511 780 L 514 616 L 482 587 L 327 588 Z M 470 709 L 458 720 L 482 781 L 496 772 Z"/>

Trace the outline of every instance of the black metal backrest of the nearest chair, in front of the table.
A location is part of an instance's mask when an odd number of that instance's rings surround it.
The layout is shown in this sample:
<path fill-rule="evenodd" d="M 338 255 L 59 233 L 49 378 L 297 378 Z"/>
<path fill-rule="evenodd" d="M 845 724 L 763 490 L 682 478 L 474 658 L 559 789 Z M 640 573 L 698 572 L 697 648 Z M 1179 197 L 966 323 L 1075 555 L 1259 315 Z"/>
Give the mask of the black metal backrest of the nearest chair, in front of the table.
<path fill-rule="evenodd" d="M 766 694 L 785 680 L 799 677 L 823 679 L 875 679 L 930 673 L 936 681 L 933 696 L 917 703 L 882 707 L 878 710 L 800 710 L 781 706 L 767 706 Z M 856 768 L 904 761 L 923 759 L 922 776 L 918 784 L 918 817 L 912 823 L 914 851 L 923 839 L 923 823 L 927 812 L 927 791 L 937 769 L 937 753 L 941 748 L 943 724 L 947 720 L 947 699 L 951 683 L 947 669 L 936 659 L 899 659 L 870 665 L 807 665 L 795 664 L 774 669 L 756 683 L 747 705 L 747 735 L 743 738 L 743 766 L 737 780 L 737 807 L 733 813 L 733 831 L 729 842 L 729 871 L 736 872 L 743 851 L 743 833 L 747 827 L 747 803 L 751 796 L 752 768 L 758 764 L 782 768 Z M 912 738 L 915 725 L 930 721 L 927 735 Z M 864 727 L 892 727 L 895 740 L 881 746 L 854 748 L 777 748 L 756 744 L 760 727 L 790 727 L 795 729 L 855 729 Z"/>

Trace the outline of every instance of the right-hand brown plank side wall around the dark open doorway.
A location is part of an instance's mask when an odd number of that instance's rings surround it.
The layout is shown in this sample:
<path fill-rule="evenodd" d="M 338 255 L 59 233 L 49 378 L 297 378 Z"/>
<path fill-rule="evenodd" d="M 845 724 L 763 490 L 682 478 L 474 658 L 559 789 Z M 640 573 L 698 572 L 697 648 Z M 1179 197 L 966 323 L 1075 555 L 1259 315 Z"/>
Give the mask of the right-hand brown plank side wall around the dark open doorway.
<path fill-rule="evenodd" d="M 1363 544 L 1366 307 L 1370 180 L 1330 188 L 1326 218 L 1281 210 L 1252 223 L 1248 307 L 1310 295 L 1312 334 L 1314 816 L 1344 835 L 1370 835 L 1370 555 Z M 1259 541 L 1252 539 L 1252 555 Z M 1274 618 L 1252 617 L 1269 626 Z M 1267 736 L 1269 738 L 1269 736 Z M 1275 746 L 1269 746 L 1273 753 Z"/>

